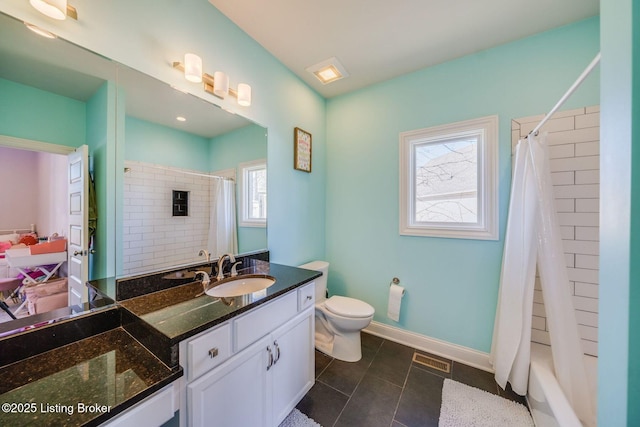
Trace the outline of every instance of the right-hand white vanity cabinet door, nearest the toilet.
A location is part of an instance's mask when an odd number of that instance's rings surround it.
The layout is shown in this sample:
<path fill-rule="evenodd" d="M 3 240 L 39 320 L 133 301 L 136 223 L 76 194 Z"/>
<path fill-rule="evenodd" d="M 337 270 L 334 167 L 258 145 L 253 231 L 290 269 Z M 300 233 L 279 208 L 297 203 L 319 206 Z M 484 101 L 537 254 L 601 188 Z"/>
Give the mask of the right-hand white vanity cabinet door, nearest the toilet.
<path fill-rule="evenodd" d="M 275 426 L 284 420 L 313 386 L 313 322 L 311 307 L 272 334 L 277 361 L 269 372 L 273 376 L 272 402 Z"/>

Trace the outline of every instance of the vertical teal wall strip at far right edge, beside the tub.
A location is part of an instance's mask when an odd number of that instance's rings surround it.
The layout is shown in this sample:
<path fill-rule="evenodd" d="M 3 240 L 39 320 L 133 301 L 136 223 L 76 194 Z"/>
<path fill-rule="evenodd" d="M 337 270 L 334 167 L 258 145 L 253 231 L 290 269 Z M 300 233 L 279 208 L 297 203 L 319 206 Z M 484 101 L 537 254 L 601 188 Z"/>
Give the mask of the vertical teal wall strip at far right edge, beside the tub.
<path fill-rule="evenodd" d="M 598 425 L 640 425 L 640 5 L 601 2 Z"/>

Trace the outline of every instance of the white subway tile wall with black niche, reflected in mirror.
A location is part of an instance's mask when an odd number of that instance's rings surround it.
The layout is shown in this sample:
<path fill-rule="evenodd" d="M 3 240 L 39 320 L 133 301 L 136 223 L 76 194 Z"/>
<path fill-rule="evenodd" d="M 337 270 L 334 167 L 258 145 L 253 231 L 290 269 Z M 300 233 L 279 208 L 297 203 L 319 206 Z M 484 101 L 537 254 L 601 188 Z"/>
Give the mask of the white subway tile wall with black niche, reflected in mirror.
<path fill-rule="evenodd" d="M 123 274 L 202 261 L 197 248 L 207 247 L 210 178 L 144 162 L 125 167 Z M 172 216 L 172 190 L 190 193 L 189 216 Z"/>

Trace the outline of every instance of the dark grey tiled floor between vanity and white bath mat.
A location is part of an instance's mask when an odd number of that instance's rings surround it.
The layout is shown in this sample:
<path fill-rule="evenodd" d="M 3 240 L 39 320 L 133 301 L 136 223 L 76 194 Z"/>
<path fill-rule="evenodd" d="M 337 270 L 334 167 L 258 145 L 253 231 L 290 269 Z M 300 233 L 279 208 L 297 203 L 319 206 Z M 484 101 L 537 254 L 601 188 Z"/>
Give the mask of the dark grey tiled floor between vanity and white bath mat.
<path fill-rule="evenodd" d="M 414 351 L 451 363 L 451 372 L 413 362 Z M 437 427 L 445 378 L 525 404 L 493 374 L 363 333 L 359 362 L 316 351 L 316 383 L 297 408 L 323 427 Z"/>

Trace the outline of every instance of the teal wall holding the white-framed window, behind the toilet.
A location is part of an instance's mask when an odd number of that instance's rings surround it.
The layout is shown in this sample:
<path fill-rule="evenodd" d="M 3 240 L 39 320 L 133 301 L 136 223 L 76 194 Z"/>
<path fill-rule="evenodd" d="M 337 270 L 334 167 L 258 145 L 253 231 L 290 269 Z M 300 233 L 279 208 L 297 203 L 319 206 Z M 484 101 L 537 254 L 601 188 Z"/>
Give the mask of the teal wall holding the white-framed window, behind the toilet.
<path fill-rule="evenodd" d="M 551 109 L 599 50 L 596 18 L 423 69 L 327 103 L 330 293 L 375 320 L 488 352 L 511 178 L 511 119 Z M 599 103 L 598 72 L 564 106 Z M 400 236 L 399 133 L 499 116 L 500 240 Z M 407 293 L 386 317 L 389 282 Z"/>

